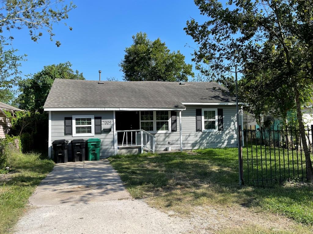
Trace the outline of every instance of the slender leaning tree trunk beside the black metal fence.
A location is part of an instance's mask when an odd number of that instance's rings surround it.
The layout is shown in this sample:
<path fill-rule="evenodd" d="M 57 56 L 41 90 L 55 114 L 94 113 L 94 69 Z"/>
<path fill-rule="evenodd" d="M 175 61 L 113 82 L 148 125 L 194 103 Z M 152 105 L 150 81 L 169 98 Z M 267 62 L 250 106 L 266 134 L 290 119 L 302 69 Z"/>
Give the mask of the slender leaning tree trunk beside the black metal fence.
<path fill-rule="evenodd" d="M 302 148 L 305 155 L 305 165 L 306 165 L 306 179 L 308 182 L 313 183 L 313 168 L 312 168 L 312 161 L 310 158 L 310 152 L 308 149 L 308 145 L 306 144 L 306 138 L 305 138 L 305 129 L 304 129 L 304 123 L 302 118 L 302 111 L 301 111 L 301 105 L 299 100 L 299 90 L 295 89 L 295 102 L 297 106 L 297 118 L 299 122 L 299 130 L 300 130 L 300 137 L 302 141 Z"/>

